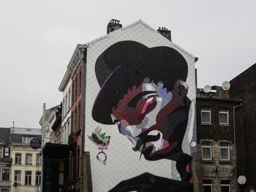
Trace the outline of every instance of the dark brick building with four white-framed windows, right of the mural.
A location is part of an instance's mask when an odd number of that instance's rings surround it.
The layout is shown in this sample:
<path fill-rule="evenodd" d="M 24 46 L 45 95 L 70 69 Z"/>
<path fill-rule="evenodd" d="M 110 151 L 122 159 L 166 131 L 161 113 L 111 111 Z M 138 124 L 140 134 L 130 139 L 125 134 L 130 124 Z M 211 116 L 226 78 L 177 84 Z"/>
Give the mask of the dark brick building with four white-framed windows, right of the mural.
<path fill-rule="evenodd" d="M 213 86 L 197 90 L 197 168 L 204 191 L 236 191 L 236 138 L 234 110 L 241 99 Z M 198 170 L 199 169 L 199 170 Z"/>

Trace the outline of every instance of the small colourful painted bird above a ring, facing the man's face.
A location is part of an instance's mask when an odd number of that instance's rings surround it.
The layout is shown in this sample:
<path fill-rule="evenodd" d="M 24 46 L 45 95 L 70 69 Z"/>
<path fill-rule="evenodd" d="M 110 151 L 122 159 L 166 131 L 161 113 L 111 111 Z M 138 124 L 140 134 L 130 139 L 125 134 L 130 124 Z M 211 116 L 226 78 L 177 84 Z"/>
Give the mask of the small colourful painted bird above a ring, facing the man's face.
<path fill-rule="evenodd" d="M 103 165 L 107 164 L 107 154 L 104 153 L 104 150 L 108 150 L 108 145 L 110 143 L 110 136 L 105 136 L 106 133 L 101 133 L 102 128 L 95 128 L 94 133 L 91 134 L 88 138 L 97 145 L 98 150 L 101 150 L 97 154 L 97 160 L 102 162 Z"/>

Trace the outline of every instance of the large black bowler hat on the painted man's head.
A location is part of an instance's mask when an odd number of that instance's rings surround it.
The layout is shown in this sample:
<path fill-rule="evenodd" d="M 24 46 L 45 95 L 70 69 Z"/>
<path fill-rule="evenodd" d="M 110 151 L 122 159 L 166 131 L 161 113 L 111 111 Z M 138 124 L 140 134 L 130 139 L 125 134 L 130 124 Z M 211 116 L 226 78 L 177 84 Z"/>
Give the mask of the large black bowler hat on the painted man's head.
<path fill-rule="evenodd" d="M 99 123 L 113 124 L 113 107 L 123 99 L 129 88 L 138 87 L 148 77 L 164 82 L 168 91 L 176 80 L 187 80 L 187 61 L 171 47 L 148 48 L 139 42 L 123 41 L 108 47 L 95 64 L 101 87 L 92 109 L 92 118 Z"/>

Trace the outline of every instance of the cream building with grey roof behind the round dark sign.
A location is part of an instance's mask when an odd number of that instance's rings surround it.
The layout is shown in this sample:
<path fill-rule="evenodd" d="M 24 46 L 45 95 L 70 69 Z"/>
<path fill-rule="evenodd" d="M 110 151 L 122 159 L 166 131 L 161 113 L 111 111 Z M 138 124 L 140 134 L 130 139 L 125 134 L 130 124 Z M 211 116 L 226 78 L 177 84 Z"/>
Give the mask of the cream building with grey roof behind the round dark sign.
<path fill-rule="evenodd" d="M 30 147 L 33 138 L 41 139 L 39 128 L 11 128 L 12 188 L 15 191 L 40 191 L 41 148 Z"/>

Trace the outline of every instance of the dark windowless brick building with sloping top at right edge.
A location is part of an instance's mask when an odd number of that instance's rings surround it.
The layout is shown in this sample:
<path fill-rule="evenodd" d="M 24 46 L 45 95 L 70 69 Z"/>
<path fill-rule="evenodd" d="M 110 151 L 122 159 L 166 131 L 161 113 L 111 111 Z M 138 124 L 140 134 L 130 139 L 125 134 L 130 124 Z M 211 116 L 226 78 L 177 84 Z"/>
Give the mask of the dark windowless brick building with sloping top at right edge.
<path fill-rule="evenodd" d="M 256 64 L 230 81 L 230 98 L 243 100 L 236 110 L 237 176 L 246 183 L 238 189 L 256 191 Z"/>

